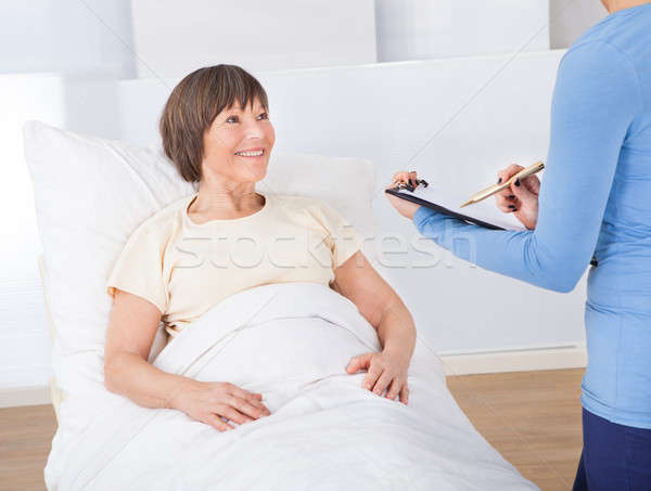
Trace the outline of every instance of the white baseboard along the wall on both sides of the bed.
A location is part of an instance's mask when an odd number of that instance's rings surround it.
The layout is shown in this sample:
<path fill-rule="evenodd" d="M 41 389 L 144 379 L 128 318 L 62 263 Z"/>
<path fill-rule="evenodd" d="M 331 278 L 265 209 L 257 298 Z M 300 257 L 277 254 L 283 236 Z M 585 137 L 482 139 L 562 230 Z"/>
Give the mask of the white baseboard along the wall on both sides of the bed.
<path fill-rule="evenodd" d="M 580 346 L 446 353 L 438 357 L 446 375 L 584 369 L 588 359 L 585 347 Z M 0 389 L 0 408 L 39 404 L 52 404 L 50 387 L 47 385 Z"/>

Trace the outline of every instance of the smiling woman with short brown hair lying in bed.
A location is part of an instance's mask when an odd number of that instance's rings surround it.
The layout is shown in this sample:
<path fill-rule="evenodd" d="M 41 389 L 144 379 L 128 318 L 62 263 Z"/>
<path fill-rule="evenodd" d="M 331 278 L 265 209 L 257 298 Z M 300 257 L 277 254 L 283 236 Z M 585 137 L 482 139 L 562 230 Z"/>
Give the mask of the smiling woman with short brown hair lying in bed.
<path fill-rule="evenodd" d="M 359 250 L 355 231 L 323 202 L 256 191 L 275 131 L 267 94 L 238 66 L 191 73 L 161 117 L 166 155 L 199 192 L 163 208 L 129 237 L 107 283 L 113 295 L 105 384 L 148 408 L 174 408 L 219 430 L 269 415 L 260 393 L 205 383 L 148 363 L 161 320 L 174 336 L 238 292 L 314 282 L 353 301 L 376 330 L 381 352 L 355 357 L 363 387 L 407 404 L 416 344 L 412 318 Z M 299 369 L 298 369 L 299 370 Z"/>

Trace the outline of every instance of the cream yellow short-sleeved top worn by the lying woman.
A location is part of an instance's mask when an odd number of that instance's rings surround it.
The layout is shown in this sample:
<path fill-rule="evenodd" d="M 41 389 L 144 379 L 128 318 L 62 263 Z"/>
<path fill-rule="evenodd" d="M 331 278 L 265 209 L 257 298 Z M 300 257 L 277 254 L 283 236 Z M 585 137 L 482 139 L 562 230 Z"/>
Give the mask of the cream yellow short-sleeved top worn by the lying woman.
<path fill-rule="evenodd" d="M 243 218 L 194 223 L 188 216 L 194 193 L 146 219 L 117 258 L 108 295 L 119 288 L 149 300 L 176 336 L 220 300 L 254 286 L 330 286 L 334 269 L 362 246 L 353 227 L 321 199 L 257 193 L 265 205 Z"/>

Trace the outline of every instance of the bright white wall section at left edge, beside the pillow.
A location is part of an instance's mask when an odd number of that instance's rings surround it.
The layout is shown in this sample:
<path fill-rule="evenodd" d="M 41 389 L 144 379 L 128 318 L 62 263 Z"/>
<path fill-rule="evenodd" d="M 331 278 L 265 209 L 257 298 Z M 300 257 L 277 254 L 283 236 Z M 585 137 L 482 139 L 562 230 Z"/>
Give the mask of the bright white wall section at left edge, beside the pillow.
<path fill-rule="evenodd" d="M 0 388 L 43 384 L 52 345 L 36 262 L 41 253 L 22 121 L 65 125 L 61 76 L 0 75 Z"/>

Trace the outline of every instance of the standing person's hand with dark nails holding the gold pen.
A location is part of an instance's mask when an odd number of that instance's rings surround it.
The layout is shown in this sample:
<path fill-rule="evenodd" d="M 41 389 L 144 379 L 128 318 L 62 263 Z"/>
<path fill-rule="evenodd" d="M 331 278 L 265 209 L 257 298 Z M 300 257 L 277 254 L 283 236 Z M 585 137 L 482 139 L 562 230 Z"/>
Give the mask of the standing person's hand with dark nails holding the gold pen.
<path fill-rule="evenodd" d="M 500 182 L 505 182 L 524 167 L 511 164 L 506 169 L 497 172 Z M 536 176 L 527 176 L 522 181 L 515 181 L 495 195 L 497 207 L 505 214 L 514 214 L 515 218 L 527 229 L 535 229 L 538 221 L 538 193 L 540 180 Z"/>

